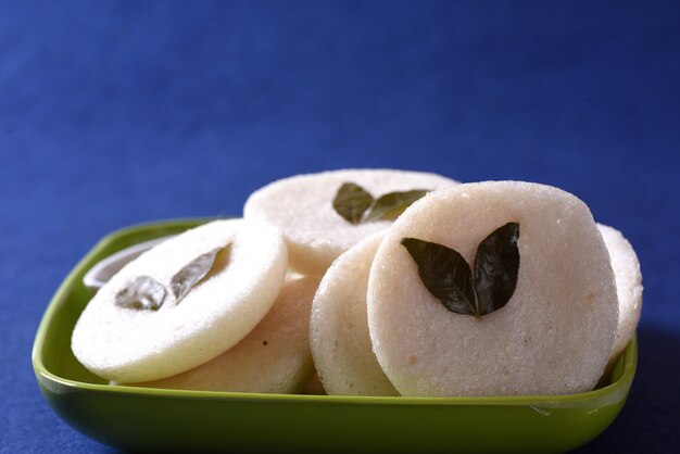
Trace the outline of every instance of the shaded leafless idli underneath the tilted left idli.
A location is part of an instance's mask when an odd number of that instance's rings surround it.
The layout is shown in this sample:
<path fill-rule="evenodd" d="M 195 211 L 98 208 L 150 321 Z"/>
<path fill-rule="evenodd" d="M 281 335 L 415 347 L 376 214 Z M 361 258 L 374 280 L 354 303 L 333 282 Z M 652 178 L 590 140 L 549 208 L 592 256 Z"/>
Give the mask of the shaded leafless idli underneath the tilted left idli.
<path fill-rule="evenodd" d="M 203 391 L 298 393 L 314 375 L 310 311 L 318 279 L 286 279 L 268 314 L 238 344 L 197 368 L 136 386 Z"/>

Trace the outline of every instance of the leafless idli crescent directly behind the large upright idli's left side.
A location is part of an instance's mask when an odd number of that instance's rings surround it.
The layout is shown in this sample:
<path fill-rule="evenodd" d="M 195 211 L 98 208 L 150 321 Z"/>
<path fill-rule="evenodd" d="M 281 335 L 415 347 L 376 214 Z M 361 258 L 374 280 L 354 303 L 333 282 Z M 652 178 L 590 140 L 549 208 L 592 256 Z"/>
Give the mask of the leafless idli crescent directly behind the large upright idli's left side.
<path fill-rule="evenodd" d="M 314 297 L 310 343 L 328 394 L 399 395 L 372 350 L 366 319 L 368 270 L 382 234 L 340 255 Z"/>

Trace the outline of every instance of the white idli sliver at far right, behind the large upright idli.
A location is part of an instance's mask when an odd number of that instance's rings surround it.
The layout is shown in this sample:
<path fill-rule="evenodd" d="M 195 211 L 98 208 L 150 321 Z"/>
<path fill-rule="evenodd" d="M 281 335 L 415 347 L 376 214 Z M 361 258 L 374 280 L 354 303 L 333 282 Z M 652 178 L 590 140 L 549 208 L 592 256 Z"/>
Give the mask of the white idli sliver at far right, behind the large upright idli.
<path fill-rule="evenodd" d="M 618 295 L 618 326 L 609 360 L 616 360 L 633 338 L 642 311 L 642 274 L 633 247 L 613 227 L 597 224 L 612 257 Z"/>

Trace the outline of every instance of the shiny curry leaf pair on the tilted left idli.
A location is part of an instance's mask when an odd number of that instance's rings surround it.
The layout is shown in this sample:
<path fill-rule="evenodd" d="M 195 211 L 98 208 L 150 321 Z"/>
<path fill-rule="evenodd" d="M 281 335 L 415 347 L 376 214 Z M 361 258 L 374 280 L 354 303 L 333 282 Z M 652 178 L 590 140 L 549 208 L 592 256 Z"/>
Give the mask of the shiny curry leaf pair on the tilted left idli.
<path fill-rule="evenodd" d="M 185 265 L 171 279 L 171 291 L 175 297 L 175 305 L 203 281 L 217 267 L 218 263 L 228 260 L 231 243 L 215 248 L 199 255 Z M 217 260 L 221 257 L 221 260 Z M 158 311 L 167 299 L 167 290 L 158 280 L 149 276 L 139 276 L 115 295 L 115 304 L 122 307 L 146 311 Z"/>

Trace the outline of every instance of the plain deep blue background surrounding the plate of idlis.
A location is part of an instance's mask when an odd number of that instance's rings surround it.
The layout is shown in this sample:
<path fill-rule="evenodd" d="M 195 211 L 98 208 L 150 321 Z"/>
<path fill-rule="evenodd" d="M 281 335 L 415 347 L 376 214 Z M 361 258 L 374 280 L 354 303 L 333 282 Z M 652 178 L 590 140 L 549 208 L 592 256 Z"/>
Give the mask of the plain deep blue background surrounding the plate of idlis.
<path fill-rule="evenodd" d="M 0 451 L 111 452 L 30 366 L 105 234 L 342 167 L 562 187 L 631 240 L 640 363 L 581 452 L 679 452 L 675 2 L 0 2 Z"/>

